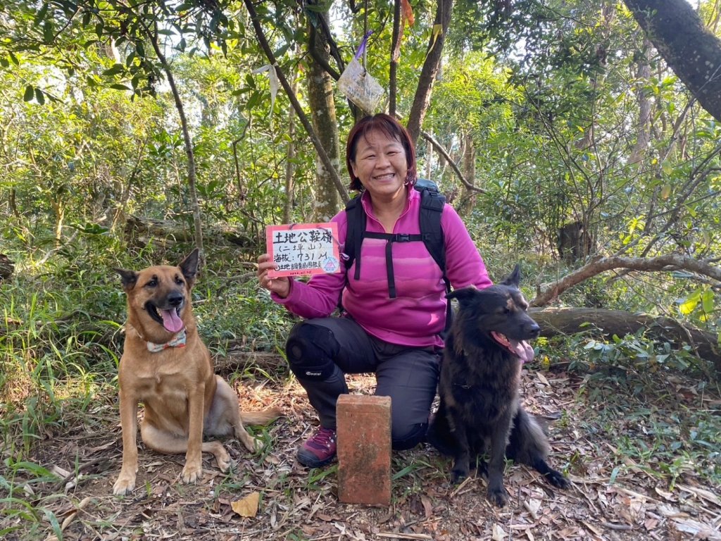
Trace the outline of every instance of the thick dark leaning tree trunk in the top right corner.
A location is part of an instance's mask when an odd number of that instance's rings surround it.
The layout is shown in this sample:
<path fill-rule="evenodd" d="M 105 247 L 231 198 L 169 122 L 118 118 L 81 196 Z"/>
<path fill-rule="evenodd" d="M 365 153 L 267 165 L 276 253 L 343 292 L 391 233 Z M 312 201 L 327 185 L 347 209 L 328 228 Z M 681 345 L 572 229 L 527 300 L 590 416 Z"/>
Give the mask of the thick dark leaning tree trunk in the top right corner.
<path fill-rule="evenodd" d="M 668 66 L 721 120 L 721 41 L 686 0 L 624 0 Z"/>

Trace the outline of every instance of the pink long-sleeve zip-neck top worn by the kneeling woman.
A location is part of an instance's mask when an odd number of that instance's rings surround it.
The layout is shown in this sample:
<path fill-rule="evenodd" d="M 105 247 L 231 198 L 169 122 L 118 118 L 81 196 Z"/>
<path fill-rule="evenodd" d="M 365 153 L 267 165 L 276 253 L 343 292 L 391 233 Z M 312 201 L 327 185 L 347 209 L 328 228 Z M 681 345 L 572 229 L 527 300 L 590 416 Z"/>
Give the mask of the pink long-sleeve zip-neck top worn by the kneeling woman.
<path fill-rule="evenodd" d="M 393 232 L 420 233 L 420 193 L 408 190 L 406 208 L 396 221 Z M 366 232 L 384 233 L 373 214 L 368 193 L 361 198 L 366 211 Z M 348 221 L 345 211 L 332 221 L 338 224 L 340 251 L 345 245 Z M 485 264 L 466 226 L 455 209 L 446 205 L 441 214 L 446 240 L 446 276 L 454 289 L 492 285 Z M 328 317 L 342 305 L 348 315 L 367 333 L 401 346 L 443 346 L 438 335 L 446 325 L 446 286 L 441 268 L 435 263 L 423 242 L 394 242 L 393 269 L 396 284 L 394 299 L 389 296 L 386 272 L 386 240 L 363 239 L 360 258 L 361 279 L 355 280 L 355 265 L 348 269 L 341 262 L 341 272 L 318 274 L 307 283 L 291 280 L 285 299 L 273 294 L 273 300 L 301 317 Z M 348 284 L 346 286 L 346 276 Z"/>

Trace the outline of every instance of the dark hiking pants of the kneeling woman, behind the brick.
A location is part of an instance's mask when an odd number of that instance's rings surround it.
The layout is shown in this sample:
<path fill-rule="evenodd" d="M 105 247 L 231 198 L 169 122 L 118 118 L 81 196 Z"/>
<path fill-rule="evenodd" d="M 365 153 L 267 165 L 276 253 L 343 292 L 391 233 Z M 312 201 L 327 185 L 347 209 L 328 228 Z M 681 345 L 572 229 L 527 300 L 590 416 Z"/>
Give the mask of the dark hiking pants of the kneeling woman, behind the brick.
<path fill-rule="evenodd" d="M 391 397 L 393 449 L 425 439 L 441 368 L 438 348 L 398 346 L 348 317 L 324 317 L 296 324 L 286 354 L 322 427 L 335 429 L 337 398 L 348 393 L 345 374 L 375 373 L 375 394 Z"/>

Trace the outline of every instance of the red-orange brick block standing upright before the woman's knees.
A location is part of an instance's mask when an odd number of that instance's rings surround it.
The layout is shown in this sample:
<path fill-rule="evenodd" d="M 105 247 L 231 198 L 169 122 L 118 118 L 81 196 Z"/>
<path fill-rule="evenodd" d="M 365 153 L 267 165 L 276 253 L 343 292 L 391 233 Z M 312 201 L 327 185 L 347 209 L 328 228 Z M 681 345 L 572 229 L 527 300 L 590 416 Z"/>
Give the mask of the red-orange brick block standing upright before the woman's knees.
<path fill-rule="evenodd" d="M 391 397 L 340 395 L 336 405 L 338 499 L 391 503 Z"/>

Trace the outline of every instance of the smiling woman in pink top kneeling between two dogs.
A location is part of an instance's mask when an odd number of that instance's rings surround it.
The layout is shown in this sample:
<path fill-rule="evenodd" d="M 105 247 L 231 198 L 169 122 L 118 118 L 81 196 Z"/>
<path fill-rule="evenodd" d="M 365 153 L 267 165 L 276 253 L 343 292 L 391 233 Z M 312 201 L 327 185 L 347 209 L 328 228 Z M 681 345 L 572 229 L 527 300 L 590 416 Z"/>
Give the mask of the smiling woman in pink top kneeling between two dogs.
<path fill-rule="evenodd" d="M 269 281 L 267 273 L 275 263 L 267 254 L 258 258 L 261 286 L 275 302 L 307 318 L 291 330 L 286 353 L 320 418 L 317 433 L 298 449 L 298 462 L 308 467 L 335 457 L 335 404 L 348 392 L 345 374 L 375 373 L 376 395 L 403 405 L 391 408 L 394 449 L 411 449 L 423 441 L 446 327 L 446 284 L 420 235 L 415 149 L 406 128 L 389 115 L 361 119 L 348 136 L 346 165 L 350 188 L 361 193 L 356 207 L 365 216 L 352 263 L 349 258 L 340 273 L 318 274 L 305 283 Z M 456 211 L 449 205 L 438 211 L 451 285 L 490 286 Z M 348 256 L 348 212 L 332 221 Z M 339 298 L 341 317 L 329 317 Z"/>

